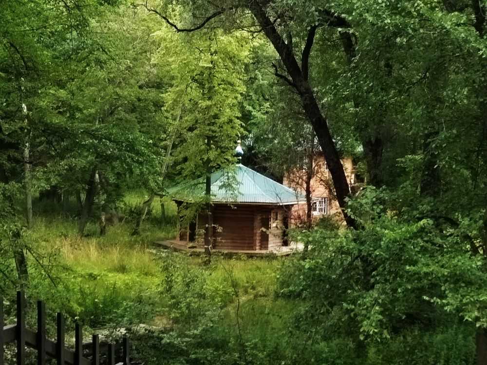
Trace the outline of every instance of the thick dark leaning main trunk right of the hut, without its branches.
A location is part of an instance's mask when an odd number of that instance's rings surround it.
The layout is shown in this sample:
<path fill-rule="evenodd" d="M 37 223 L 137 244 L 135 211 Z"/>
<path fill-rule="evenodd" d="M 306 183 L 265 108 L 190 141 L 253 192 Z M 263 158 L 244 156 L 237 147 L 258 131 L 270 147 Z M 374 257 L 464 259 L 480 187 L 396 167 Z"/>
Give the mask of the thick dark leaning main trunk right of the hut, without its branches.
<path fill-rule="evenodd" d="M 355 228 L 355 220 L 345 211 L 345 199 L 350 195 L 350 187 L 348 186 L 345 171 L 341 164 L 335 142 L 330 134 L 327 121 L 319 109 L 313 90 L 310 87 L 307 78 L 304 77 L 292 48 L 286 44 L 281 37 L 274 26 L 274 23 L 265 13 L 263 6 L 256 0 L 250 2 L 249 8 L 259 25 L 262 27 L 265 36 L 270 40 L 277 53 L 280 55 L 287 73 L 291 76 L 292 86 L 300 95 L 304 112 L 317 135 L 319 146 L 321 147 L 335 186 L 338 205 L 341 208 L 345 222 L 347 223 L 347 226 Z"/>

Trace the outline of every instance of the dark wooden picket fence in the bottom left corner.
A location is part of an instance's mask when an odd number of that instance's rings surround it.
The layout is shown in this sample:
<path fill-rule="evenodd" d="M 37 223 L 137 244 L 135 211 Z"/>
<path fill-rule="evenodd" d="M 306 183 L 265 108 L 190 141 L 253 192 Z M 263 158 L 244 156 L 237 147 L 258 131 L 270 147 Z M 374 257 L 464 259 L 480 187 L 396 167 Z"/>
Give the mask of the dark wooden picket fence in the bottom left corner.
<path fill-rule="evenodd" d="M 17 365 L 25 365 L 26 347 L 37 351 L 37 365 L 46 365 L 47 357 L 56 359 L 57 365 L 99 365 L 100 342 L 98 335 L 93 335 L 91 343 L 92 359 L 83 356 L 83 335 L 81 326 L 75 325 L 75 350 L 65 347 L 64 316 L 57 313 L 56 341 L 46 338 L 46 309 L 42 301 L 37 302 L 37 331 L 25 327 L 25 295 L 17 292 L 17 324 L 3 326 L 3 298 L 0 297 L 0 365 L 4 365 L 5 344 L 17 343 Z M 123 338 L 123 358 L 117 365 L 130 365 L 129 343 Z M 115 347 L 108 345 L 108 365 L 115 364 Z"/>

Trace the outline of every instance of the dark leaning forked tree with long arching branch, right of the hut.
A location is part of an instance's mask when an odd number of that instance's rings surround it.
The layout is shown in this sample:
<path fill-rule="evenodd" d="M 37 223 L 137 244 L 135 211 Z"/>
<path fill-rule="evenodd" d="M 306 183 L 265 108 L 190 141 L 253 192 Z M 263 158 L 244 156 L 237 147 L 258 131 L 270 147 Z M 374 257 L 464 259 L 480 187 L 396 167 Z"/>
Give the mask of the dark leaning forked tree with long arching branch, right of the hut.
<path fill-rule="evenodd" d="M 300 97 L 304 113 L 317 135 L 319 145 L 330 170 L 338 204 L 342 208 L 345 221 L 349 226 L 353 227 L 355 222 L 348 217 L 345 211 L 345 199 L 350 194 L 350 188 L 328 127 L 326 115 L 320 109 L 316 94 L 309 80 L 309 57 L 318 27 L 330 24 L 345 27 L 347 24 L 343 18 L 334 16 L 334 13 L 327 9 L 306 6 L 306 4 L 294 5 L 286 2 L 264 3 L 263 1 L 249 1 L 248 3 L 233 3 L 230 1 L 215 5 L 206 1 L 194 1 L 188 4 L 187 12 L 189 14 L 192 13 L 193 19 L 189 19 L 187 27 L 177 25 L 174 20 L 171 21 L 167 8 L 158 10 L 147 5 L 147 3 L 145 7 L 149 12 L 163 18 L 177 32 L 200 30 L 208 22 L 220 15 L 227 15 L 233 20 L 233 17 L 237 19 L 236 14 L 242 11 L 252 14 L 257 24 L 250 23 L 250 27 L 253 28 L 253 31 L 262 31 L 267 37 L 279 55 L 285 72 L 288 74 L 283 74 L 278 65 L 274 64 L 276 76 L 284 80 Z M 293 12 L 292 16 L 286 15 L 288 12 Z M 203 18 L 204 20 L 195 24 L 195 19 L 198 18 Z M 235 21 L 235 23 L 232 26 L 249 26 L 239 21 Z M 352 41 L 348 33 L 343 36 L 344 41 Z M 300 46 L 298 47 L 298 45 Z"/>

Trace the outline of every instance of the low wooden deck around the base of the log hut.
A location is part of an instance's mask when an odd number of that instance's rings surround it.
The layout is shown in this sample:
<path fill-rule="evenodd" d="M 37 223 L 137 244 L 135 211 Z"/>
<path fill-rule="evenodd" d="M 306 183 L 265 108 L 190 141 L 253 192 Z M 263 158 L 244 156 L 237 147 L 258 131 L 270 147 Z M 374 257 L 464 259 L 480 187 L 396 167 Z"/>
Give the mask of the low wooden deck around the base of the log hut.
<path fill-rule="evenodd" d="M 187 246 L 187 242 L 178 241 L 176 239 L 168 239 L 165 241 L 154 241 L 154 244 L 162 246 L 163 248 L 174 250 L 174 251 L 185 251 L 194 253 L 196 255 L 201 255 L 205 253 L 203 247 Z M 243 254 L 247 256 L 264 256 L 264 255 L 275 255 L 275 256 L 288 256 L 295 252 L 301 251 L 302 248 L 299 245 L 293 246 L 281 246 L 277 249 L 270 250 L 223 250 L 223 249 L 212 249 L 211 252 L 218 252 L 224 254 Z"/>

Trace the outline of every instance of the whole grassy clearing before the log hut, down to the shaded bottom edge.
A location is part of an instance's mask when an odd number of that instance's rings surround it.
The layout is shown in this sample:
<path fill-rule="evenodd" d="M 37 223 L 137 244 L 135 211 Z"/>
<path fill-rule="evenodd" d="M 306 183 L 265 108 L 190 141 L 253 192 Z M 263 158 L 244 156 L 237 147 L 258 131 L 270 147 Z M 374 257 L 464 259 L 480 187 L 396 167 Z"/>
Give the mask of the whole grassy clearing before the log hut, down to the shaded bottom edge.
<path fill-rule="evenodd" d="M 148 365 L 385 365 L 404 364 L 410 353 L 422 359 L 411 364 L 426 364 L 431 348 L 436 358 L 447 359 L 444 364 L 469 363 L 473 335 L 463 327 L 431 333 L 413 329 L 365 346 L 346 335 L 347 329 L 329 335 L 320 332 L 326 324 L 303 326 L 307 303 L 276 292 L 281 267 L 292 258 L 214 255 L 206 264 L 202 256 L 155 249 L 153 240 L 175 233 L 175 207 L 167 204 L 167 219 L 160 225 L 160 205 L 154 204 L 141 234 L 132 236 L 143 200 L 140 194 L 128 196 L 120 224 L 108 227 L 103 237 L 95 223 L 86 237 L 78 237 L 73 215 L 46 211 L 36 217 L 25 239 L 51 277 L 28 256 L 30 299 L 44 299 L 53 319 L 53 312 L 62 310 L 88 333 L 153 326 L 131 338 L 134 358 Z M 35 313 L 30 320 L 35 326 Z M 448 351 L 455 341 L 466 350 Z"/>

